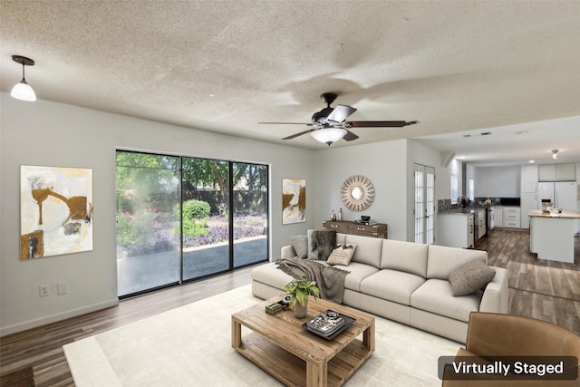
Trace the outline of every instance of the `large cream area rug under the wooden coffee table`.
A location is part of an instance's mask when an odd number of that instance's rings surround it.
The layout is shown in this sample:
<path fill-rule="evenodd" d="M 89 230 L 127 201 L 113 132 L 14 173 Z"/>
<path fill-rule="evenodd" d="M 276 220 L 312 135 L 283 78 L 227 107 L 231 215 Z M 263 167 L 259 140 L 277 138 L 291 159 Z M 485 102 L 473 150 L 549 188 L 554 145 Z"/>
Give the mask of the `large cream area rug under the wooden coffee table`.
<path fill-rule="evenodd" d="M 260 301 L 245 285 L 66 344 L 74 383 L 77 387 L 282 385 L 231 347 L 231 314 Z M 375 325 L 375 352 L 344 385 L 440 386 L 438 358 L 457 353 L 460 343 L 381 317 L 376 317 Z"/>

